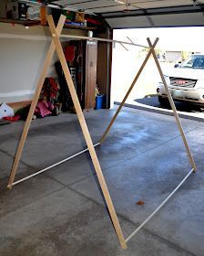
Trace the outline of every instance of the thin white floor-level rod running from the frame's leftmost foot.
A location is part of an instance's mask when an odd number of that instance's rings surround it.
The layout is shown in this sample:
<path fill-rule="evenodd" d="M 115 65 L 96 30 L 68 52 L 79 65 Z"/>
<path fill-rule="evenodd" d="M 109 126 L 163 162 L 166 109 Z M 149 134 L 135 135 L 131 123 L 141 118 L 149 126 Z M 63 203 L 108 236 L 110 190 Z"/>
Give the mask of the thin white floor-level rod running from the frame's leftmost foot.
<path fill-rule="evenodd" d="M 94 144 L 94 146 L 97 146 L 97 145 L 99 145 L 99 143 L 98 143 L 98 144 Z M 46 172 L 47 170 L 49 170 L 49 169 L 51 169 L 51 168 L 53 168 L 53 167 L 55 167 L 55 166 L 57 166 L 57 165 L 61 165 L 61 164 L 65 163 L 66 161 L 68 161 L 68 160 L 70 160 L 70 159 L 76 157 L 77 155 L 81 155 L 81 154 L 83 154 L 83 153 L 85 153 L 85 152 L 87 152 L 87 151 L 88 151 L 88 148 L 86 148 L 86 149 L 84 149 L 84 150 L 82 150 L 82 151 L 76 153 L 75 155 L 71 155 L 71 156 L 69 156 L 69 157 L 66 157 L 65 159 L 63 159 L 63 160 L 57 162 L 56 164 L 50 165 L 50 166 L 48 166 L 48 167 L 46 167 L 46 168 L 44 168 L 44 169 L 42 169 L 42 170 L 36 172 L 36 173 L 33 174 L 33 175 L 23 177 L 23 178 L 21 178 L 21 179 L 15 181 L 15 182 L 12 184 L 12 186 L 14 186 L 14 185 L 16 185 L 16 184 L 18 184 L 18 183 L 21 183 L 21 182 L 25 181 L 25 180 L 28 179 L 28 178 L 31 178 L 31 177 L 33 177 L 33 176 L 37 176 L 37 175 L 39 175 L 39 174 L 42 174 L 42 173 Z"/>

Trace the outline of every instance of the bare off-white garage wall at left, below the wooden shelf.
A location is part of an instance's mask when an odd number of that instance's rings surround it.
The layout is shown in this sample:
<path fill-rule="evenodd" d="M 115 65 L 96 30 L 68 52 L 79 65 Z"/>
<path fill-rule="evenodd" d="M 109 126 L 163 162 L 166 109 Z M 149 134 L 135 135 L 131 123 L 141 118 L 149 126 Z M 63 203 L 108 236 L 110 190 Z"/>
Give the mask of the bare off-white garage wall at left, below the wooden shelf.
<path fill-rule="evenodd" d="M 49 46 L 45 41 L 0 40 L 0 101 L 30 100 Z M 55 70 L 55 69 L 54 69 Z M 55 75 L 53 66 L 48 76 Z"/>

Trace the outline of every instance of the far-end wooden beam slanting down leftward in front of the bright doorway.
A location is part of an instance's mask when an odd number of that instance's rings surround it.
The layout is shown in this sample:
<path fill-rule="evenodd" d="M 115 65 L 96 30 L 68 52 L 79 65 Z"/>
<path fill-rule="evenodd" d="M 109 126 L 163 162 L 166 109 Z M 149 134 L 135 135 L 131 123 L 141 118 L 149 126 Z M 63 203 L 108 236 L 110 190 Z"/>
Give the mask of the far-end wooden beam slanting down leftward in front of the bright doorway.
<path fill-rule="evenodd" d="M 110 131 L 110 129 L 111 129 L 113 123 L 114 123 L 115 120 L 117 119 L 118 113 L 121 111 L 123 105 L 124 105 L 125 102 L 127 101 L 130 92 L 132 91 L 133 87 L 135 86 L 136 82 L 138 81 L 138 78 L 139 78 L 139 76 L 140 76 L 142 70 L 145 68 L 145 66 L 146 66 L 146 64 L 147 64 L 147 62 L 148 62 L 148 59 L 150 58 L 150 56 L 151 56 L 151 54 L 152 54 L 152 50 L 156 47 L 157 43 L 158 43 L 158 38 L 155 40 L 153 47 L 149 49 L 148 55 L 147 55 L 146 59 L 143 61 L 143 63 L 142 63 L 142 65 L 141 65 L 140 69 L 138 70 L 135 79 L 133 80 L 132 84 L 130 85 L 130 87 L 129 87 L 129 89 L 128 89 L 128 92 L 126 93 L 126 95 L 125 95 L 123 101 L 120 103 L 119 107 L 117 108 L 117 112 L 115 113 L 114 117 L 111 119 L 110 123 L 108 124 L 107 130 L 106 130 L 105 133 L 102 135 L 102 137 L 101 137 L 101 139 L 100 139 L 100 144 L 102 144 L 102 143 L 105 141 L 105 139 L 106 139 L 106 137 L 107 137 L 107 133 L 109 133 L 109 131 Z"/>

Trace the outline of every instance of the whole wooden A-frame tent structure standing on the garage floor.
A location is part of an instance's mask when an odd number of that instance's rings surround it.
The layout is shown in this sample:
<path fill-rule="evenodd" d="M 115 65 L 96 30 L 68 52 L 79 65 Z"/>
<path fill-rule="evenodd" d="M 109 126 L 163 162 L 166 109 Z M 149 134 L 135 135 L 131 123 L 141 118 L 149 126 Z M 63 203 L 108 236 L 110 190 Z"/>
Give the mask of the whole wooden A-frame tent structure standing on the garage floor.
<path fill-rule="evenodd" d="M 106 200 L 106 203 L 107 203 L 107 209 L 109 211 L 109 214 L 110 214 L 110 218 L 113 222 L 113 225 L 114 225 L 114 228 L 116 230 L 116 233 L 117 233 L 117 238 L 120 242 L 120 245 L 123 249 L 126 249 L 127 248 L 127 242 L 128 240 L 130 240 L 137 232 L 139 229 L 141 229 L 147 222 L 149 219 L 151 219 L 157 212 L 160 208 L 162 208 L 164 206 L 164 204 L 166 204 L 166 202 L 168 201 L 168 199 L 170 197 L 172 197 L 174 195 L 174 193 L 179 189 L 179 187 L 185 182 L 185 180 L 190 176 L 190 174 L 194 171 L 196 171 L 196 165 L 194 163 L 194 160 L 193 160 L 193 157 L 190 153 L 190 149 L 189 149 L 189 144 L 187 142 L 187 139 L 186 139 L 186 136 L 185 136 L 185 133 L 183 131 L 183 128 L 181 126 L 181 123 L 179 121 L 179 115 L 178 115 L 178 112 L 176 110 L 176 107 L 175 107 L 175 104 L 174 104 L 174 101 L 172 100 L 172 97 L 171 97 L 171 94 L 170 94 L 170 91 L 168 89 L 168 85 L 167 85 L 167 82 L 163 76 L 163 73 L 162 73 L 162 70 L 160 68 L 160 65 L 159 65 L 159 62 L 158 62 L 158 59 L 157 59 L 157 56 L 156 56 L 156 53 L 155 53 L 155 47 L 158 43 L 158 38 L 155 40 L 154 44 L 152 45 L 149 38 L 148 38 L 148 45 L 149 45 L 149 51 L 148 51 L 148 55 L 146 57 L 146 59 L 144 60 L 144 62 L 142 63 L 140 69 L 138 70 L 138 73 L 135 77 L 135 79 L 133 80 L 130 88 L 128 89 L 128 92 L 127 94 L 125 95 L 123 101 L 121 102 L 121 104 L 119 105 L 118 109 L 117 109 L 117 112 L 116 114 L 114 115 L 114 117 L 112 118 L 111 122 L 109 123 L 109 125 L 107 126 L 107 130 L 106 132 L 103 134 L 100 142 L 98 144 L 93 144 L 92 143 L 92 139 L 90 137 L 90 133 L 88 132 L 88 129 L 87 129 L 87 123 L 86 123 L 86 120 L 85 120 L 85 117 L 84 117 L 84 114 L 82 112 L 82 109 L 81 109 L 81 106 L 80 106 L 80 103 L 78 101 L 78 98 L 77 98 L 77 95 L 76 95 L 76 90 L 75 90 L 75 86 L 74 86 L 74 83 L 73 83 L 73 80 L 71 78 L 71 75 L 70 75 L 70 72 L 69 72 L 69 69 L 68 69 L 68 66 L 66 64 L 66 58 L 65 58 L 65 55 L 64 55 L 64 52 L 63 52 L 63 48 L 61 46 L 61 43 L 60 43 L 60 37 L 67 37 L 67 38 L 79 38 L 79 39 L 91 39 L 91 40 L 98 40 L 98 41 L 105 41 L 105 42 L 117 42 L 117 43 L 120 43 L 120 44 L 128 44 L 128 45 L 134 45 L 134 46 L 138 46 L 138 47 L 144 47 L 144 46 L 140 46 L 140 45 L 137 45 L 137 44 L 133 44 L 133 43 L 128 43 L 128 42 L 122 42 L 122 41 L 116 41 L 116 40 L 110 40 L 110 39 L 105 39 L 105 38 L 98 38 L 98 37 L 78 37 L 78 36 L 66 36 L 66 35 L 61 35 L 61 32 L 62 32 L 62 28 L 64 27 L 64 24 L 65 24 L 65 21 L 66 21 L 66 16 L 60 16 L 59 18 L 59 21 L 58 21 L 58 25 L 57 27 L 55 26 L 54 24 L 54 20 L 53 20 L 53 17 L 52 16 L 47 16 L 47 21 L 48 21 L 48 25 L 49 25 L 49 28 L 50 28 L 50 31 L 51 31 L 51 35 L 52 35 L 52 42 L 51 42 L 51 45 L 50 45 L 50 48 L 48 49 L 48 52 L 47 52 L 47 56 L 46 56 L 46 60 L 45 60 L 45 63 L 44 63 L 44 67 L 42 69 L 42 73 L 40 75 L 40 79 L 38 81 L 38 84 L 37 84 L 37 87 L 36 87 L 36 93 L 35 93 L 35 96 L 33 98 L 33 101 L 31 103 L 31 107 L 30 107 L 30 111 L 28 113 L 28 116 L 27 116 L 27 119 L 26 119 L 26 124 L 25 124 L 25 127 L 24 127 L 24 131 L 22 133 L 22 136 L 21 136 L 21 139 L 20 139 L 20 142 L 18 144 L 18 147 L 17 147 L 17 151 L 16 151 L 16 154 L 15 154 L 15 161 L 14 161 L 14 165 L 12 167 L 12 170 L 11 170 L 11 174 L 10 174 L 10 178 L 9 178 L 9 182 L 8 182 L 8 188 L 11 189 L 14 185 L 20 183 L 20 182 L 23 182 L 25 181 L 26 179 L 28 178 L 31 178 L 32 176 L 36 176 L 38 174 L 41 174 L 43 172 L 45 172 L 46 170 L 56 166 L 56 165 L 60 165 L 64 162 L 66 162 L 67 160 L 71 159 L 71 158 L 74 158 L 76 157 L 77 155 L 81 155 L 83 154 L 84 152 L 86 151 L 89 151 L 89 154 L 91 156 L 91 159 L 92 159 L 92 162 L 93 162 L 93 165 L 95 167 L 95 170 L 96 170 L 96 173 L 97 173 L 97 178 L 98 178 L 98 181 L 99 181 L 99 185 L 101 187 L 101 190 L 103 192 L 103 196 L 105 197 L 105 200 Z M 145 47 L 147 48 L 147 47 Z M 40 92 L 42 90 L 42 87 L 43 87 L 43 84 L 44 84 L 44 81 L 46 79 L 46 72 L 47 72 L 47 69 L 51 63 L 51 60 L 52 60 L 52 57 L 54 55 L 54 52 L 56 50 L 56 53 L 58 55 L 58 58 L 61 62 L 61 66 L 62 66 L 62 69 L 64 71 L 64 74 L 65 74 L 65 77 L 66 77 L 66 83 L 67 83 L 67 86 L 68 86 L 68 89 L 70 91 L 70 94 L 71 94 L 71 97 L 72 97 L 72 100 L 74 102 L 74 106 L 75 106 L 75 109 L 76 109 L 76 115 L 77 115 L 77 118 L 78 118 L 78 121 L 80 123 L 80 126 L 81 126 L 81 129 L 82 129 L 82 132 L 84 134 L 84 137 L 85 137 L 85 140 L 86 140 L 86 143 L 87 143 L 87 149 L 79 152 L 79 153 L 76 153 L 76 155 L 72 155 L 72 156 L 69 156 L 67 157 L 66 159 L 54 164 L 54 165 L 50 165 L 48 167 L 46 167 L 45 169 L 43 170 L 40 170 L 38 172 L 36 172 L 35 174 L 31 175 L 31 176 L 26 176 L 25 178 L 22 178 L 20 180 L 17 180 L 15 181 L 15 174 L 16 174 L 16 170 L 17 170 L 17 167 L 19 165 L 19 161 L 20 161 L 20 158 L 21 158 L 21 155 L 22 155 L 22 152 L 23 152 L 23 149 L 24 149 L 24 145 L 26 143 L 26 136 L 27 136 L 27 133 L 29 131 L 29 127 L 30 127 L 30 124 L 32 122 L 32 117 L 33 117 L 33 114 L 35 112 L 35 109 L 36 109 L 36 103 L 39 99 L 39 96 L 40 96 Z M 121 108 L 123 107 L 124 103 L 126 102 L 126 100 L 128 99 L 128 95 L 129 93 L 132 91 L 133 87 L 135 86 L 142 70 L 145 68 L 147 62 L 148 62 L 148 59 L 150 58 L 150 56 L 153 56 L 153 58 L 155 59 L 155 62 L 156 62 L 156 65 L 158 67 L 158 72 L 160 74 L 160 77 L 161 77 L 161 80 L 163 81 L 164 83 L 164 86 L 165 86 L 165 89 L 167 91 L 167 94 L 168 94 L 168 100 L 170 102 L 170 105 L 171 105 L 171 108 L 174 112 L 174 115 L 175 115 L 175 118 L 176 118 L 176 122 L 178 124 L 178 127 L 179 127 L 179 132 L 182 136 L 182 139 L 183 139 L 183 143 L 185 144 L 185 147 L 186 147 L 186 151 L 187 151 L 187 154 L 189 155 L 189 162 L 190 162 L 190 165 L 192 166 L 192 169 L 189 171 L 189 174 L 179 183 L 179 186 L 176 187 L 174 189 L 174 191 L 171 192 L 171 194 L 161 203 L 161 205 L 148 217 L 148 219 L 146 219 L 139 227 L 138 229 L 136 229 L 127 239 L 124 238 L 124 235 L 123 235 L 123 232 L 122 232 L 122 229 L 120 227 L 120 224 L 119 224 L 119 221 L 117 219 L 117 213 L 116 213 L 116 210 L 114 208 L 114 205 L 113 205 L 113 202 L 112 202 L 112 199 L 109 195 L 109 192 L 108 192 L 108 189 L 107 189 L 107 183 L 105 181 L 105 178 L 103 176 L 103 172 L 101 170 L 101 166 L 99 164 L 99 161 L 97 159 L 97 154 L 96 154 L 96 151 L 95 151 L 95 146 L 99 145 L 99 144 L 102 144 L 104 142 L 104 140 L 106 139 L 107 137 L 107 133 L 109 132 L 110 128 L 112 127 L 113 123 L 115 122 L 115 120 L 117 119 L 117 115 L 118 113 L 120 112 Z"/>

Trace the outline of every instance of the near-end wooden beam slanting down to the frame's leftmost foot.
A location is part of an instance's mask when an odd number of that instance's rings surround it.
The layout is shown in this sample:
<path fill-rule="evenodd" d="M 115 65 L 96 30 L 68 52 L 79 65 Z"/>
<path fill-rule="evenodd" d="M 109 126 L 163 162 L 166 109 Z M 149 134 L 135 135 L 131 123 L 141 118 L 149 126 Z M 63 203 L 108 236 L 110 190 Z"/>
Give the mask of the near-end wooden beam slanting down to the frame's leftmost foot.
<path fill-rule="evenodd" d="M 66 20 L 66 16 L 60 16 L 60 19 L 59 19 L 59 22 L 58 22 L 58 25 L 57 25 L 57 28 L 56 28 L 56 33 L 57 34 L 61 33 L 63 25 L 65 23 L 65 20 Z M 11 174 L 10 174 L 10 177 L 9 177 L 8 186 L 7 186 L 9 189 L 12 188 L 13 182 L 15 180 L 15 174 L 16 174 L 17 167 L 19 165 L 19 161 L 20 161 L 23 149 L 24 149 L 24 145 L 26 143 L 27 133 L 29 131 L 30 123 L 32 121 L 32 118 L 33 118 L 33 115 L 34 115 L 34 112 L 35 112 L 35 109 L 36 109 L 36 103 L 39 99 L 40 92 L 42 90 L 44 81 L 46 79 L 47 69 L 51 64 L 51 60 L 53 58 L 54 52 L 55 52 L 55 44 L 52 41 L 52 43 L 50 45 L 50 48 L 47 52 L 46 60 L 45 60 L 45 63 L 44 63 L 44 67 L 42 69 L 42 73 L 40 75 L 40 79 L 37 83 L 36 93 L 34 95 L 33 101 L 31 103 L 30 110 L 29 110 L 28 115 L 27 115 L 26 123 L 25 123 L 25 126 L 24 126 L 24 131 L 22 133 L 20 142 L 19 142 L 18 147 L 17 147 L 17 151 L 16 151 L 16 154 L 15 154 L 14 165 L 12 167 Z"/>

